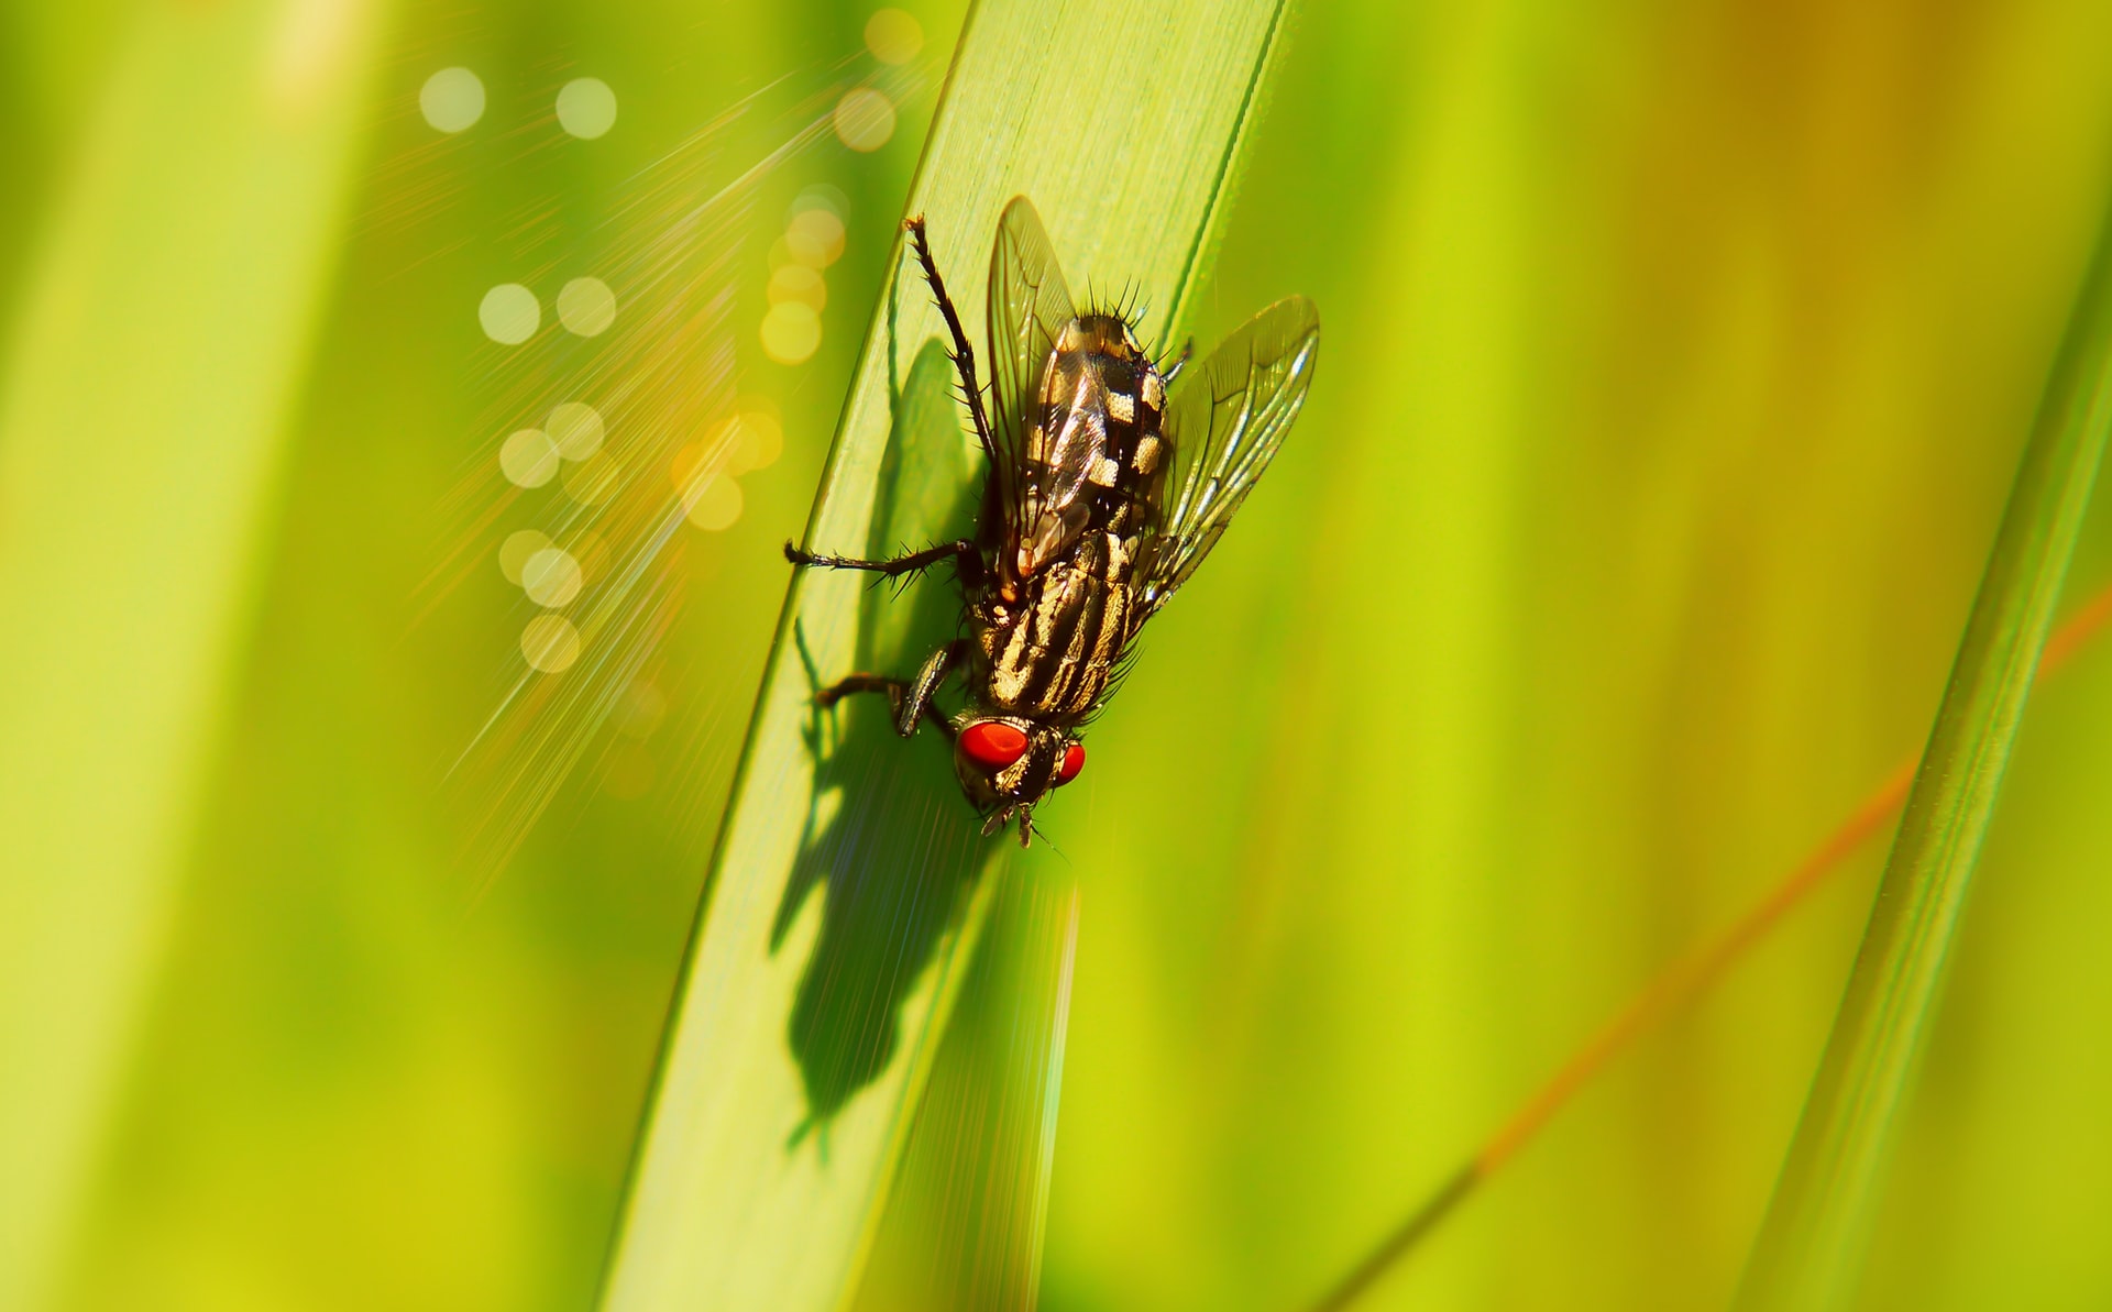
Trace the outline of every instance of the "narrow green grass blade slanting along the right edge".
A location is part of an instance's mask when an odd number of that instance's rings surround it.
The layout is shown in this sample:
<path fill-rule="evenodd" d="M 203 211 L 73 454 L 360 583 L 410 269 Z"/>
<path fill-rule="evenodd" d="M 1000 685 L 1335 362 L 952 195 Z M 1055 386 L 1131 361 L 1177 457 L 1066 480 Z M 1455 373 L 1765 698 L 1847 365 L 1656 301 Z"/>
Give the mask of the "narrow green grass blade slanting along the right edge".
<path fill-rule="evenodd" d="M 2112 222 L 2047 380 L 1738 1308 L 1837 1308 L 1854 1297 L 1899 1109 L 1937 1012 L 2108 427 Z"/>

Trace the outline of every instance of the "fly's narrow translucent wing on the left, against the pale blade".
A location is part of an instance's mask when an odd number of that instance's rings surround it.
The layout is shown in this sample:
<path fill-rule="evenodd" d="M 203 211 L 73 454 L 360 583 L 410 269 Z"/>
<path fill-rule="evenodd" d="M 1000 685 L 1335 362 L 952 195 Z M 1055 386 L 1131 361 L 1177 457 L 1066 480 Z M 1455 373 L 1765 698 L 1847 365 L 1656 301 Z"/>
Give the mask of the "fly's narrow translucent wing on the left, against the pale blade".
<path fill-rule="evenodd" d="M 1026 520 L 1026 452 L 1041 420 L 1041 372 L 1071 321 L 1071 289 L 1026 196 L 1012 196 L 991 247 L 991 433 L 1005 516 L 1003 558 L 1016 558 Z"/>

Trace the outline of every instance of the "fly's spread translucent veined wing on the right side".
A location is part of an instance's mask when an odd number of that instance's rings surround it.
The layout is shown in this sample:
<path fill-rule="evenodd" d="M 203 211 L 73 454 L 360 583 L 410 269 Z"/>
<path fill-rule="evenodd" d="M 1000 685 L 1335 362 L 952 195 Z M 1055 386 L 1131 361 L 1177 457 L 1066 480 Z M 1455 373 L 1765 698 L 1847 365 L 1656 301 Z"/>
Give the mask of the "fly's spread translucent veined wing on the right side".
<path fill-rule="evenodd" d="M 1318 355 L 1320 311 L 1303 296 L 1288 296 L 1225 338 L 1172 397 L 1170 501 L 1164 528 L 1140 551 L 1138 621 L 1164 606 L 1225 535 L 1290 433 Z"/>

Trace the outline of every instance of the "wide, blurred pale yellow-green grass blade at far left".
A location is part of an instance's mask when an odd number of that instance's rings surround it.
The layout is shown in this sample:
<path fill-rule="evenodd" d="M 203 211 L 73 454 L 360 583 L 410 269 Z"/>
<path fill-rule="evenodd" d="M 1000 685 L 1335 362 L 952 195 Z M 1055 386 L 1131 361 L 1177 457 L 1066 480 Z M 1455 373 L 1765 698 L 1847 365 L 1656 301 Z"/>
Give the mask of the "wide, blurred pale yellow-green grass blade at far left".
<path fill-rule="evenodd" d="M 95 1168 L 325 294 L 380 6 L 148 4 L 0 374 L 0 1308 Z"/>

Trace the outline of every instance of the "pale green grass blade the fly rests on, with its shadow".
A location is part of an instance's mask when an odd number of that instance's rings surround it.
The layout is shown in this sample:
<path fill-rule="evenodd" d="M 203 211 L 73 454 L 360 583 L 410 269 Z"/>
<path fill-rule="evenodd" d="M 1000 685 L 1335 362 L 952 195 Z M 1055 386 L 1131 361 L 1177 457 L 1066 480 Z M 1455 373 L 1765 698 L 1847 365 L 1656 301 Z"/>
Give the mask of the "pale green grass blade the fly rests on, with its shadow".
<path fill-rule="evenodd" d="M 1170 338 L 1225 205 L 1282 2 L 1168 8 L 1149 36 L 1124 0 L 976 8 L 910 194 L 972 332 L 997 213 L 1024 192 L 1079 285 L 1147 287 L 1162 308 L 1145 336 Z M 1136 57 L 1124 61 L 1119 95 L 1102 95 L 1079 57 L 1113 51 Z M 1113 148 L 1121 142 L 1151 148 Z M 898 262 L 811 545 L 885 554 L 965 528 L 980 456 L 953 406 L 931 418 L 946 387 L 927 346 L 938 334 L 936 311 Z M 860 577 L 792 583 L 670 1018 L 604 1308 L 807 1312 L 851 1297 L 963 953 L 1010 866 L 980 870 L 1005 845 L 976 837 L 927 735 L 895 742 L 874 706 L 817 718 L 811 693 L 853 668 L 908 672 L 953 623 L 944 579 L 895 604 L 874 604 Z"/>

